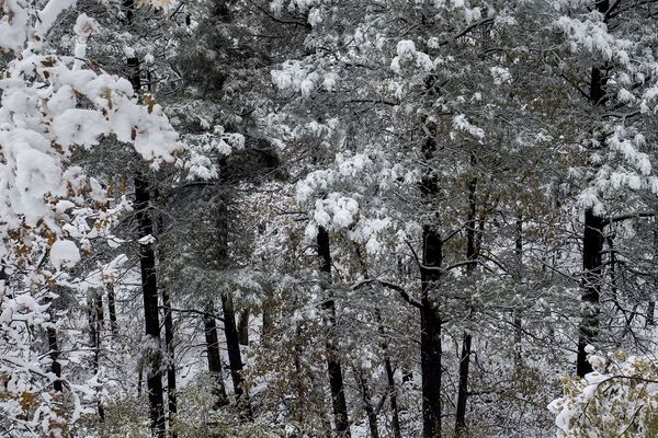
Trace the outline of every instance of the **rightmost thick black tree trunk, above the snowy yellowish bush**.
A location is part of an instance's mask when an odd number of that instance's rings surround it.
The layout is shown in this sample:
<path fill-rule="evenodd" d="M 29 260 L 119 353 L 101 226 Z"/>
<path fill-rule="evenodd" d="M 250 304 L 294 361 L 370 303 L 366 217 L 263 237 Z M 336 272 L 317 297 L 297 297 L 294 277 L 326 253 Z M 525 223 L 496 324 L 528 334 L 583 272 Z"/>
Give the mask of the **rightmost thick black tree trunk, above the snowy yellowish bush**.
<path fill-rule="evenodd" d="M 592 344 L 599 334 L 599 299 L 601 296 L 603 251 L 603 219 L 588 208 L 585 211 L 585 237 L 582 239 L 583 285 L 578 332 L 578 361 L 576 373 L 585 377 L 592 371 L 587 360 L 586 347 Z"/>

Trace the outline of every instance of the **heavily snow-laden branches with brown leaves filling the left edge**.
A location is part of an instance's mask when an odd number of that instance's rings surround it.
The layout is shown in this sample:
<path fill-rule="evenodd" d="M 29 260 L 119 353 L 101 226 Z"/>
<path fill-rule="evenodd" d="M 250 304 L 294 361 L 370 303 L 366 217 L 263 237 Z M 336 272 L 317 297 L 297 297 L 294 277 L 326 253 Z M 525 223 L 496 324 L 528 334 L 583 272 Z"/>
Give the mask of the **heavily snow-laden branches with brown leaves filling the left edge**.
<path fill-rule="evenodd" d="M 61 436 L 83 413 L 81 397 L 93 393 L 93 383 L 53 367 L 52 337 L 66 314 L 53 302 L 71 286 L 67 270 L 91 241 L 107 235 L 116 210 L 72 154 L 120 142 L 157 168 L 181 148 L 152 99 L 141 105 L 126 79 L 86 62 L 93 19 L 78 16 L 75 56 L 48 50 L 49 31 L 73 3 L 9 1 L 0 22 L 0 48 L 10 56 L 0 79 L 2 435 Z M 39 346 L 46 332 L 49 344 Z"/>

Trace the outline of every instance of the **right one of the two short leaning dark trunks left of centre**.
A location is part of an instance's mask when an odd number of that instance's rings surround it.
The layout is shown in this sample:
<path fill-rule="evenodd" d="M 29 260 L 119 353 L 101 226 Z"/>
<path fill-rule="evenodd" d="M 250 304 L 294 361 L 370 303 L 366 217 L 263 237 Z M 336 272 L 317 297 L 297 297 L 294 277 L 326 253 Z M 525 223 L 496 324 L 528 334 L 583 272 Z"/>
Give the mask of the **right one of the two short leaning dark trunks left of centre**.
<path fill-rule="evenodd" d="M 228 364 L 230 366 L 234 391 L 243 415 L 247 418 L 251 418 L 249 393 L 245 388 L 245 380 L 242 379 L 242 356 L 240 354 L 240 342 L 238 338 L 238 328 L 236 326 L 236 313 L 234 310 L 232 298 L 223 295 L 222 308 L 224 311 L 224 335 L 226 336 L 226 348 L 228 350 Z"/>

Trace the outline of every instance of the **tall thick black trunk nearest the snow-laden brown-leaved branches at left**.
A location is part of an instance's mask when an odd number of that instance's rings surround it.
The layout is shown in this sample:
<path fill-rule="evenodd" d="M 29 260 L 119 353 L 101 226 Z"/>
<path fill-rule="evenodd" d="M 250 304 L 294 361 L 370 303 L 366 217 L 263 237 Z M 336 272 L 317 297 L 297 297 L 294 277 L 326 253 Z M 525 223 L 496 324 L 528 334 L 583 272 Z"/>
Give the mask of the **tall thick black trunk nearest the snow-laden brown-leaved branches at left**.
<path fill-rule="evenodd" d="M 149 215 L 150 193 L 148 181 L 138 173 L 135 176 L 135 210 L 139 223 L 139 233 L 143 238 L 152 237 L 154 227 Z M 152 242 L 139 244 L 139 267 L 141 270 L 141 289 L 144 292 L 144 321 L 146 335 L 159 348 L 160 344 L 160 316 L 158 314 L 158 281 L 156 276 L 156 253 Z M 158 438 L 164 438 L 164 407 L 162 389 L 161 357 L 158 350 L 149 354 L 147 364 L 146 385 L 151 418 L 151 430 Z"/>

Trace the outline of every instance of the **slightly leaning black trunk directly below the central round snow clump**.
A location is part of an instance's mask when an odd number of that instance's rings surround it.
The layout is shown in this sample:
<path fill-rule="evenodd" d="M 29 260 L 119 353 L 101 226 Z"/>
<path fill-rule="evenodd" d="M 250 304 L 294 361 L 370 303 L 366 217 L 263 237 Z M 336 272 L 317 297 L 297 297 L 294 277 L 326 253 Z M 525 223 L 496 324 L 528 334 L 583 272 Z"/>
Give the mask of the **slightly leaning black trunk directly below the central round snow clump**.
<path fill-rule="evenodd" d="M 324 227 L 319 227 L 318 257 L 320 260 L 321 286 L 325 290 L 331 285 L 331 250 L 329 246 L 329 233 Z M 339 438 L 351 437 L 350 419 L 348 416 L 348 403 L 343 385 L 342 367 L 336 339 L 336 303 L 332 298 L 324 302 L 325 315 L 329 322 L 331 333 L 327 337 L 327 371 L 329 373 L 329 385 L 331 387 L 331 405 L 333 407 L 333 420 L 336 423 L 336 435 Z"/>

